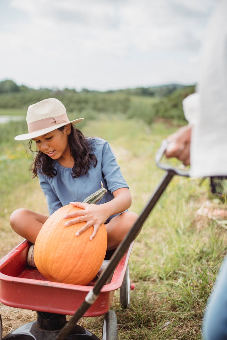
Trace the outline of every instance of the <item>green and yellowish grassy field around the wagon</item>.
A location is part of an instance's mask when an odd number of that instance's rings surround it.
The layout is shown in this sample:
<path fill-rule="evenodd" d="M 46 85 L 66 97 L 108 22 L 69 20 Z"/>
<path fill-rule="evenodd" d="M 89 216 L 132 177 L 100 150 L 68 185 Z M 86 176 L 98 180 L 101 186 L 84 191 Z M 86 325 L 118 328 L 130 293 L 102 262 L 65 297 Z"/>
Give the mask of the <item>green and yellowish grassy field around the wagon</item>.
<path fill-rule="evenodd" d="M 85 135 L 110 142 L 130 187 L 130 209 L 140 214 L 164 175 L 155 164 L 155 153 L 177 127 L 165 122 L 148 126 L 121 116 L 100 117 L 78 127 Z M 47 214 L 38 180 L 31 179 L 28 148 L 13 141 L 21 129 L 16 123 L 5 125 L 0 143 L 1 257 L 21 241 L 9 226 L 14 209 L 26 207 Z M 144 223 L 129 261 L 135 284 L 130 307 L 120 308 L 119 291 L 111 306 L 117 314 L 119 340 L 201 338 L 204 308 L 226 253 L 225 221 L 196 214 L 208 198 L 208 179 L 201 184 L 199 179 L 175 176 Z M 36 318 L 30 310 L 2 304 L 0 313 L 3 335 Z M 102 317 L 82 318 L 80 324 L 101 338 Z"/>

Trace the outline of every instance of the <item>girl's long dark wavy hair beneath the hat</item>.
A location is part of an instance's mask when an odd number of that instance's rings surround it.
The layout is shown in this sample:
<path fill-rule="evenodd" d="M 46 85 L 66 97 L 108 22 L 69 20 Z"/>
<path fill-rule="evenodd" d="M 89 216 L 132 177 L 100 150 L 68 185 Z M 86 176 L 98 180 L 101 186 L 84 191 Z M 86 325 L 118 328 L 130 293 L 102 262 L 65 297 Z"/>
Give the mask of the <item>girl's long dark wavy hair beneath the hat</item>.
<path fill-rule="evenodd" d="M 63 131 L 65 126 L 62 126 L 58 130 Z M 68 143 L 70 147 L 70 154 L 74 159 L 74 166 L 72 168 L 72 177 L 76 178 L 80 175 L 84 175 L 93 165 L 96 167 L 97 158 L 92 153 L 92 147 L 90 138 L 84 137 L 82 132 L 75 128 L 71 124 L 71 132 L 68 135 Z M 42 151 L 32 150 L 32 139 L 29 142 L 29 149 L 32 153 L 36 154 L 34 162 L 32 163 L 30 170 L 33 173 L 32 178 L 37 176 L 37 170 L 49 177 L 56 176 L 57 170 L 54 169 L 54 160 L 47 156 Z"/>

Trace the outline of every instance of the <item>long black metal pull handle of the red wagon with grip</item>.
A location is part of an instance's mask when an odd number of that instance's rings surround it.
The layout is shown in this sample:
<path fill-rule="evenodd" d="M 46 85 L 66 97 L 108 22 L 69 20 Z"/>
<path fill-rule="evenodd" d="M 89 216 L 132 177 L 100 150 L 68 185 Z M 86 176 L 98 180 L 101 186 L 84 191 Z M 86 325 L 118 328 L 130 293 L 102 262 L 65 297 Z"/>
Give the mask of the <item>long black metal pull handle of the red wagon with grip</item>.
<path fill-rule="evenodd" d="M 159 198 L 161 197 L 162 193 L 166 189 L 169 182 L 172 180 L 173 176 L 174 175 L 185 176 L 185 177 L 189 176 L 189 173 L 185 171 L 175 169 L 166 164 L 164 165 L 160 164 L 160 160 L 165 152 L 166 146 L 167 146 L 167 142 L 164 140 L 155 157 L 156 164 L 158 165 L 158 167 L 165 170 L 166 173 L 164 174 L 157 188 L 154 190 L 153 194 L 151 195 L 150 200 L 148 201 L 147 205 L 142 210 L 141 214 L 139 215 L 139 217 L 133 224 L 132 228 L 130 229 L 128 234 L 125 236 L 125 238 L 121 241 L 121 243 L 118 245 L 117 249 L 115 250 L 114 254 L 112 255 L 110 259 L 109 265 L 102 272 L 97 282 L 95 283 L 93 289 L 91 289 L 88 292 L 88 294 L 85 297 L 84 302 L 77 309 L 77 311 L 71 317 L 71 319 L 66 323 L 66 325 L 61 329 L 58 336 L 55 338 L 56 340 L 64 340 L 66 336 L 69 335 L 72 328 L 77 324 L 78 320 L 83 316 L 83 314 L 87 311 L 87 309 L 90 308 L 90 306 L 95 302 L 102 287 L 105 285 L 106 281 L 108 280 L 109 276 L 114 271 L 120 259 L 123 257 L 123 255 L 128 250 L 131 242 L 136 238 L 137 235 L 139 235 L 141 228 L 143 226 L 143 223 L 147 219 L 153 207 L 158 202 Z"/>

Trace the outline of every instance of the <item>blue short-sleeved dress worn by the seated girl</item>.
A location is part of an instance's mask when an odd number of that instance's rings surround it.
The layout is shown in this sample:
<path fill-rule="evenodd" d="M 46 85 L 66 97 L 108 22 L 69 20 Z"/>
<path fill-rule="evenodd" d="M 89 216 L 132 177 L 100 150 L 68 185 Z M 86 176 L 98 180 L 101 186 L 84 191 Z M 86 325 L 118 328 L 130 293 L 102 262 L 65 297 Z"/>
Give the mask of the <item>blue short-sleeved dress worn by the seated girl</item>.
<path fill-rule="evenodd" d="M 97 204 L 111 201 L 115 190 L 128 188 L 109 143 L 93 137 L 91 145 L 92 153 L 97 158 L 97 165 L 96 167 L 92 165 L 85 175 L 73 178 L 72 168 L 61 166 L 57 160 L 53 163 L 57 171 L 56 176 L 49 177 L 38 172 L 39 183 L 46 196 L 50 215 L 69 202 L 82 202 L 101 188 L 101 182 L 107 192 Z M 110 216 L 108 220 L 114 216 Z"/>

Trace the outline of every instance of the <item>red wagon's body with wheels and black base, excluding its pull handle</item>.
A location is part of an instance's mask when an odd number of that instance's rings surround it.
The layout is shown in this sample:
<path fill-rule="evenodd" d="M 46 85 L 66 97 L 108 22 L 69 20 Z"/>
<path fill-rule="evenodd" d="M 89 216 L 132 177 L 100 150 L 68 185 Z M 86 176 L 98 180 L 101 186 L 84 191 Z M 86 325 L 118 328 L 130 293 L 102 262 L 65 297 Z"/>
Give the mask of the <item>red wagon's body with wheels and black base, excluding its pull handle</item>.
<path fill-rule="evenodd" d="M 92 285 L 79 286 L 48 281 L 36 268 L 28 267 L 27 254 L 30 245 L 30 242 L 24 240 L 0 260 L 0 301 L 7 306 L 35 310 L 37 320 L 17 328 L 6 335 L 4 340 L 55 339 L 66 323 L 66 314 L 73 315 L 93 288 Z M 85 317 L 104 315 L 102 339 L 117 339 L 116 314 L 109 310 L 116 289 L 120 288 L 122 308 L 129 306 L 131 285 L 128 261 L 132 245 L 133 242 L 117 264 L 111 282 L 102 287 L 95 303 L 84 314 Z M 66 339 L 99 338 L 76 325 Z"/>

